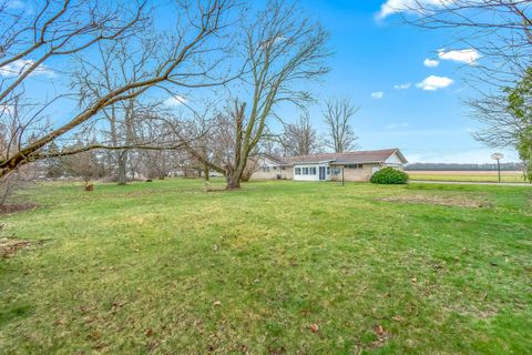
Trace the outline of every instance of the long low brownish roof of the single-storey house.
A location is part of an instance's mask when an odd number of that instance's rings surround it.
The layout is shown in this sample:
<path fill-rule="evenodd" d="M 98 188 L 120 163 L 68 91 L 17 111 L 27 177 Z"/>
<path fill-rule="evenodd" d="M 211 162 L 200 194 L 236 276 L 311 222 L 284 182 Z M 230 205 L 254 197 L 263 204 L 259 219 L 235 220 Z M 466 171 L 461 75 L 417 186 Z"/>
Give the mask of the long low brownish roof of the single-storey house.
<path fill-rule="evenodd" d="M 335 164 L 360 164 L 360 163 L 382 163 L 393 153 L 397 153 L 399 159 L 407 163 L 407 159 L 398 149 L 383 149 L 378 151 L 356 151 L 344 153 L 320 153 L 313 155 L 300 156 L 283 156 L 277 160 L 285 165 L 294 164 L 310 164 L 310 163 L 325 163 L 328 162 L 331 165 Z"/>

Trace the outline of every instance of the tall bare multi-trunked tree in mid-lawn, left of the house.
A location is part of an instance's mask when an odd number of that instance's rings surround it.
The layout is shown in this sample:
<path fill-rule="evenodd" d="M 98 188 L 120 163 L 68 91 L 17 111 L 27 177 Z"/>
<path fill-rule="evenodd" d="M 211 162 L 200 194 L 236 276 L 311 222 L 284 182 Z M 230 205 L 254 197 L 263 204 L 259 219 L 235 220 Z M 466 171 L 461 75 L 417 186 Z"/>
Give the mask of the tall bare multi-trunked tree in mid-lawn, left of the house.
<path fill-rule="evenodd" d="M 233 99 L 228 104 L 227 118 L 234 128 L 231 161 L 225 166 L 204 161 L 225 175 L 228 190 L 239 189 L 249 155 L 264 138 L 267 119 L 276 116 L 277 105 L 307 102 L 309 92 L 297 88 L 328 72 L 324 65 L 329 54 L 328 36 L 321 26 L 303 17 L 297 7 L 280 0 L 270 1 L 248 23 L 242 57 L 249 74 L 244 78 L 249 84 L 244 85 L 244 90 L 249 91 L 250 99 Z M 244 97 L 244 90 L 234 91 L 234 97 Z M 193 153 L 203 159 L 197 152 Z"/>

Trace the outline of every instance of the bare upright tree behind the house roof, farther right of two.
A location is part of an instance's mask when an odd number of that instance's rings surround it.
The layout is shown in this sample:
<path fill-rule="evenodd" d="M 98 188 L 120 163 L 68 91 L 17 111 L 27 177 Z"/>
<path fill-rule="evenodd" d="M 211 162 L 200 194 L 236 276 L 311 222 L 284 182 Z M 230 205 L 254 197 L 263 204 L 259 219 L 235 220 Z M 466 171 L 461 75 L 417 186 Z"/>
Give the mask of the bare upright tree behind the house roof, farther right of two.
<path fill-rule="evenodd" d="M 347 98 L 330 98 L 325 102 L 324 118 L 327 125 L 327 146 L 337 153 L 357 148 L 357 135 L 352 131 L 350 120 L 358 112 Z"/>

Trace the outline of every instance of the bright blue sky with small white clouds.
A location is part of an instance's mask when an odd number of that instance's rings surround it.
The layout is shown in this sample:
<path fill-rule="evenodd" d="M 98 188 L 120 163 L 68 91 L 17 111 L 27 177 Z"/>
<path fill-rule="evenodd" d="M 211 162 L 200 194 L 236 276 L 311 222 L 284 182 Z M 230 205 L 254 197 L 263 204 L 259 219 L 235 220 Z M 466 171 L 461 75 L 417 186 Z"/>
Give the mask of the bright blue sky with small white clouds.
<path fill-rule="evenodd" d="M 161 0 L 161 6 L 167 1 Z M 319 20 L 330 33 L 334 52 L 328 60 L 330 73 L 309 87 L 317 100 L 308 106 L 311 123 L 325 132 L 324 101 L 347 97 L 360 108 L 352 126 L 362 150 L 398 148 L 411 163 L 493 162 L 490 155 L 494 150 L 473 139 L 480 125 L 463 104 L 474 94 L 466 79 L 483 59 L 474 50 L 453 43 L 451 32 L 402 23 L 395 9 L 411 1 L 299 1 L 303 12 Z M 22 0 L 11 3 L 24 6 Z M 32 75 L 28 90 L 52 95 L 64 89 L 63 79 L 60 71 L 44 65 Z M 183 100 L 168 97 L 165 102 L 178 108 Z M 58 108 L 58 116 L 62 110 L 65 108 Z M 75 106 L 69 110 L 75 111 Z M 280 114 L 285 121 L 295 121 L 300 113 L 283 109 Z M 504 162 L 519 161 L 516 152 L 502 152 Z"/>

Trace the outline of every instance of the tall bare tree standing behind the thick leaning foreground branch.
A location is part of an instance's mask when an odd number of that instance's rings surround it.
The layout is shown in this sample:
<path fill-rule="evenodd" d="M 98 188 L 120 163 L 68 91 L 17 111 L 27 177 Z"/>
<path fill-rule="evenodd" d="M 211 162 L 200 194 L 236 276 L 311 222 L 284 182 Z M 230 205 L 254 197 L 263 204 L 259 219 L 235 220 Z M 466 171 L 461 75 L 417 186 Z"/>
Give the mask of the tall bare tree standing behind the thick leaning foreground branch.
<path fill-rule="evenodd" d="M 81 104 L 86 104 L 119 85 L 145 80 L 150 59 L 155 57 L 158 41 L 144 37 L 129 37 L 113 42 L 96 44 L 95 58 L 75 55 L 78 70 L 72 78 L 72 85 L 79 92 Z M 131 49 L 133 48 L 133 49 Z M 145 110 L 140 98 L 123 100 L 101 110 L 102 119 L 91 120 L 85 130 L 92 134 L 94 130 L 103 132 L 103 142 L 112 146 L 131 145 L 140 142 L 135 138 L 135 122 Z M 98 118 L 98 116 L 96 116 Z M 80 131 L 83 135 L 86 132 Z M 79 136 L 78 135 L 78 136 Z M 116 150 L 112 153 L 115 176 L 119 184 L 126 182 L 126 165 L 130 150 Z"/>

